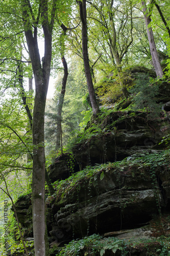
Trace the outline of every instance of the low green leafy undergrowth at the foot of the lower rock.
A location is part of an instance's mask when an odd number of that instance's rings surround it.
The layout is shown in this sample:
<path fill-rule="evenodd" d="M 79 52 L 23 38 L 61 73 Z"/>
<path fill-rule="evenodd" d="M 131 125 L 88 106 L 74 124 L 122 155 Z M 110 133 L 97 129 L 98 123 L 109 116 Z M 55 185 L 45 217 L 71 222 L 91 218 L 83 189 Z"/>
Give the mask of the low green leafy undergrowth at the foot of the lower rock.
<path fill-rule="evenodd" d="M 119 255 L 128 256 L 138 255 L 141 251 L 145 252 L 142 255 L 154 256 L 166 256 L 170 253 L 169 248 L 170 238 L 160 237 L 159 239 L 143 238 L 130 240 L 117 239 L 114 237 L 102 238 L 98 234 L 85 237 L 81 240 L 73 240 L 56 256 L 103 256 L 103 255 Z M 136 254 L 134 254 L 136 252 Z"/>

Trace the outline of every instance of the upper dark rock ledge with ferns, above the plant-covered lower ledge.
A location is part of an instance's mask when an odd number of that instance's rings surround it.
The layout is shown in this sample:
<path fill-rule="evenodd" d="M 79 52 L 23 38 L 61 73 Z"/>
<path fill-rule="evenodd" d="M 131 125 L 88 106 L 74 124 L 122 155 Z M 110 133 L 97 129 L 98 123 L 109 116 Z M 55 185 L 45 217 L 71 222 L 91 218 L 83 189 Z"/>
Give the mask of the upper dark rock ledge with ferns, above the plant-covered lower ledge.
<path fill-rule="evenodd" d="M 120 161 L 145 150 L 159 150 L 162 137 L 169 133 L 168 118 L 147 121 L 141 112 L 113 112 L 100 123 L 101 132 L 74 147 L 80 168 L 95 163 Z"/>

